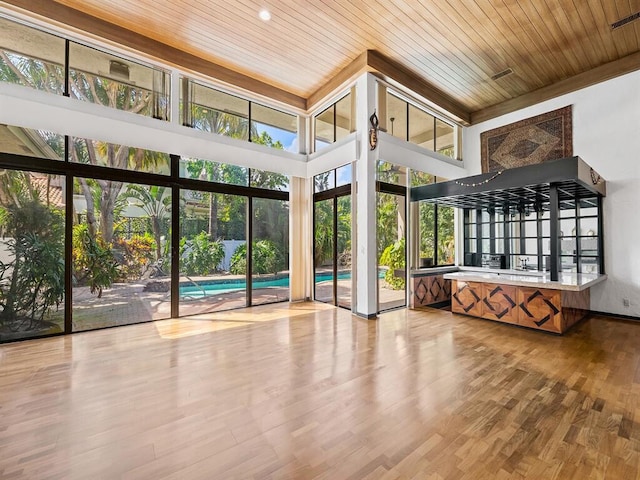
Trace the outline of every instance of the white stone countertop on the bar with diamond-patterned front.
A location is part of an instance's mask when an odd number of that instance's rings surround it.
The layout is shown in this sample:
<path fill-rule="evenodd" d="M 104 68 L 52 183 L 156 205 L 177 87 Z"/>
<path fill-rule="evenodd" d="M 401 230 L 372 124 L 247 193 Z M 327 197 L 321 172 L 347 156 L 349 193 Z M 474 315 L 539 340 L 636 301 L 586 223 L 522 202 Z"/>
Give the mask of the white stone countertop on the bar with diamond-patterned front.
<path fill-rule="evenodd" d="M 497 283 L 503 285 L 513 285 L 517 287 L 537 287 L 549 288 L 552 290 L 568 290 L 580 292 L 597 285 L 607 279 L 606 275 L 596 275 L 588 273 L 560 273 L 558 281 L 551 281 L 549 274 L 527 275 L 503 273 L 508 270 L 492 272 L 485 271 L 459 271 L 445 273 L 444 278 L 449 280 L 462 280 L 464 282 Z"/>

